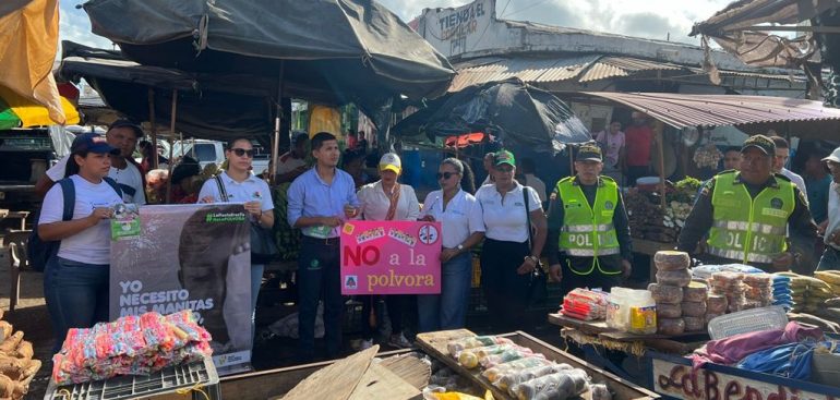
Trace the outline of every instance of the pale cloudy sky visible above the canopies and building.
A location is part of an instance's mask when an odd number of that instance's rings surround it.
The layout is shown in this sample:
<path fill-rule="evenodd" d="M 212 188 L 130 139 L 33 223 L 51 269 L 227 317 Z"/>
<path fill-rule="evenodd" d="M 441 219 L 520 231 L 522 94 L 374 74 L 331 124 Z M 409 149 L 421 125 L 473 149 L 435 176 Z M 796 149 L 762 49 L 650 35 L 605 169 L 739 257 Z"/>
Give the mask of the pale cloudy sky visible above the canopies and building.
<path fill-rule="evenodd" d="M 610 32 L 672 41 L 698 44 L 688 37 L 694 22 L 711 16 L 731 0 L 496 0 L 496 16 L 549 25 Z M 424 8 L 457 7 L 469 0 L 380 0 L 404 21 Z M 110 41 L 91 33 L 82 0 L 61 1 L 61 39 L 110 48 Z M 691 4 L 687 7 L 687 4 Z"/>

